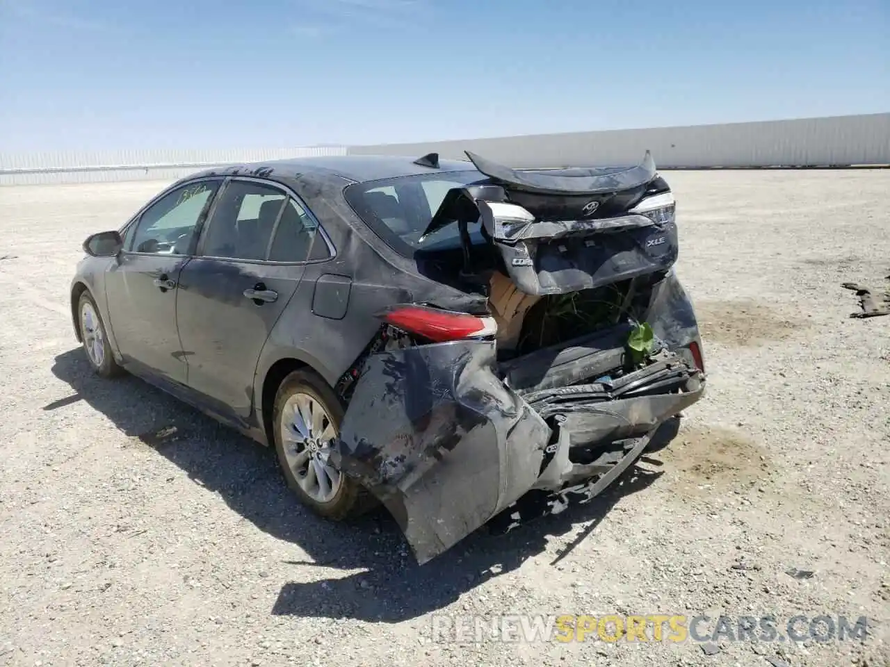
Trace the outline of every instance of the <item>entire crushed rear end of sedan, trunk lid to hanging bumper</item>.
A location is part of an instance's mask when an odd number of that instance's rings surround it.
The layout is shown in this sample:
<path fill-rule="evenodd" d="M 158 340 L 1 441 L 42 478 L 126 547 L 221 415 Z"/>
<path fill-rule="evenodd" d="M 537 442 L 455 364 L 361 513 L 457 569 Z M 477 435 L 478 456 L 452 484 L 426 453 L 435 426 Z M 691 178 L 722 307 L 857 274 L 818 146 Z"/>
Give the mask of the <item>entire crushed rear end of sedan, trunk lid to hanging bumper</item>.
<path fill-rule="evenodd" d="M 673 271 L 674 199 L 647 154 L 630 169 L 514 172 L 468 154 L 421 235 L 457 225 L 454 285 L 489 312 L 416 302 L 338 390 L 332 460 L 399 522 L 420 563 L 497 516 L 585 502 L 697 401 L 704 363 Z M 473 244 L 478 225 L 484 244 Z M 451 304 L 453 309 L 453 304 Z M 644 350 L 632 333 L 653 333 Z"/>

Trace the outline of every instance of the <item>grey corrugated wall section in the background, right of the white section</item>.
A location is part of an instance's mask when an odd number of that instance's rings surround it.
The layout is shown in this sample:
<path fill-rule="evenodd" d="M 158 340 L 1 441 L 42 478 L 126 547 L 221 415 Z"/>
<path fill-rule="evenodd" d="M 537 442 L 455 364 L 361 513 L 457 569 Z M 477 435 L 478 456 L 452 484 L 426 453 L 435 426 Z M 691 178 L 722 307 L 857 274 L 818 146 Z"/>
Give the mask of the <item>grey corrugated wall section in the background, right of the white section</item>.
<path fill-rule="evenodd" d="M 890 164 L 890 113 L 730 125 L 533 134 L 497 139 L 352 146 L 384 153 L 465 159 L 471 150 L 513 167 L 628 165 L 650 150 L 659 167 Z"/>

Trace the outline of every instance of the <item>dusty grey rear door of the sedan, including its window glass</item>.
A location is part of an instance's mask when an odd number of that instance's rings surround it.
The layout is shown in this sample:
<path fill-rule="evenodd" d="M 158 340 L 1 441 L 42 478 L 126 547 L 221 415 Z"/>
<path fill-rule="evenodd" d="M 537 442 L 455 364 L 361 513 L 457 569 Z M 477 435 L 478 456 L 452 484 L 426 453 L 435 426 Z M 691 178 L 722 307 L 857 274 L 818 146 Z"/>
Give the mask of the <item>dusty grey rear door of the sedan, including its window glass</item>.
<path fill-rule="evenodd" d="M 263 344 L 303 276 L 318 224 L 295 195 L 231 178 L 198 254 L 179 278 L 177 322 L 188 385 L 219 414 L 247 423 Z"/>

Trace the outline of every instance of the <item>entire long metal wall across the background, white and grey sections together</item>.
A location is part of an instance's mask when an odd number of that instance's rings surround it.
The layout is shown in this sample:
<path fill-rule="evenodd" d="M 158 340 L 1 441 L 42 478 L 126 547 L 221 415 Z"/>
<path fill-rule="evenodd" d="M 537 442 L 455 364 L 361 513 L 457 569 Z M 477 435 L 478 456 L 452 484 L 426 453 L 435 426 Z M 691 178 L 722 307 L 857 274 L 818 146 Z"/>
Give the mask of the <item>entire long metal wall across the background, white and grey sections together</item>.
<path fill-rule="evenodd" d="M 890 165 L 890 113 L 348 148 L 0 153 L 0 185 L 174 180 L 219 165 L 347 152 L 463 158 L 466 149 L 514 167 L 627 165 L 647 149 L 661 168 Z"/>

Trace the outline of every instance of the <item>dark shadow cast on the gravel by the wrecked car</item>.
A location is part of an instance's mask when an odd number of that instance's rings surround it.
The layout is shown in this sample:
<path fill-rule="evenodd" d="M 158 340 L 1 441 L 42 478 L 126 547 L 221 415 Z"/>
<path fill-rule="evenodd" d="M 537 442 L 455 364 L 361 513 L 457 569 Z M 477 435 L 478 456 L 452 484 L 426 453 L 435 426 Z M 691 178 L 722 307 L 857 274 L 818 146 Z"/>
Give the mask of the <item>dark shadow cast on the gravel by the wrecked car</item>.
<path fill-rule="evenodd" d="M 198 485 L 220 494 L 240 516 L 309 555 L 306 561 L 286 561 L 285 565 L 318 567 L 320 578 L 286 583 L 272 615 L 384 623 L 424 615 L 542 553 L 547 535 L 562 535 L 587 523 L 552 559 L 554 565 L 595 530 L 616 502 L 642 491 L 661 474 L 637 466 L 586 505 L 570 507 L 506 535 L 490 535 L 483 528 L 418 567 L 385 510 L 371 512 L 351 525 L 316 517 L 287 489 L 271 448 L 256 445 L 150 384 L 132 376 L 102 380 L 93 374 L 80 349 L 56 357 L 53 374 L 76 393 L 44 406 L 45 410 L 85 400 L 133 438 L 134 446 L 151 447 Z M 666 427 L 651 451 L 676 435 L 676 424 Z M 343 570 L 351 574 L 343 576 Z"/>

